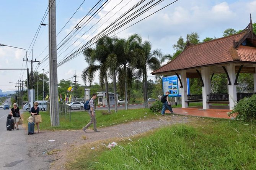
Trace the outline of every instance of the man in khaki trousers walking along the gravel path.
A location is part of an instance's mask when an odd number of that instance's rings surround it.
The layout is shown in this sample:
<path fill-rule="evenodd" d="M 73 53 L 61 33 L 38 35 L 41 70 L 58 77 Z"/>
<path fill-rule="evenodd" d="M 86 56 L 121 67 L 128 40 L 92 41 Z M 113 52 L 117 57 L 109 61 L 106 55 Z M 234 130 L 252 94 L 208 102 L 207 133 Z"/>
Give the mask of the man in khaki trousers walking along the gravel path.
<path fill-rule="evenodd" d="M 83 132 L 86 133 L 86 129 L 93 123 L 93 130 L 94 132 L 99 132 L 99 130 L 97 130 L 96 128 L 96 115 L 95 115 L 95 102 L 94 100 L 97 98 L 97 95 L 94 93 L 92 98 L 90 99 L 89 101 L 89 105 L 90 105 L 90 109 L 88 111 L 89 115 L 90 115 L 90 122 L 85 126 L 83 127 Z"/>

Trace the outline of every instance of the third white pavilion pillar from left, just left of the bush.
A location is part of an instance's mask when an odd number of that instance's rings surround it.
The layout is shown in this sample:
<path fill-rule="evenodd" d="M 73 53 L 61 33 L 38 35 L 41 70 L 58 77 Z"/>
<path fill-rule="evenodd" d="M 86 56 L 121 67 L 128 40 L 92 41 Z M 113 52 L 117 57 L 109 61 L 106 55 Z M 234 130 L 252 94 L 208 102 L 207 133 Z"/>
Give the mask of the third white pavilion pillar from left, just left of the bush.
<path fill-rule="evenodd" d="M 236 101 L 237 101 L 236 85 L 234 85 L 235 84 L 235 79 L 236 79 L 235 65 L 234 64 L 228 64 L 227 72 L 228 72 L 230 82 L 231 82 L 231 85 L 228 85 L 229 109 L 232 110 L 233 107 L 235 106 Z"/>

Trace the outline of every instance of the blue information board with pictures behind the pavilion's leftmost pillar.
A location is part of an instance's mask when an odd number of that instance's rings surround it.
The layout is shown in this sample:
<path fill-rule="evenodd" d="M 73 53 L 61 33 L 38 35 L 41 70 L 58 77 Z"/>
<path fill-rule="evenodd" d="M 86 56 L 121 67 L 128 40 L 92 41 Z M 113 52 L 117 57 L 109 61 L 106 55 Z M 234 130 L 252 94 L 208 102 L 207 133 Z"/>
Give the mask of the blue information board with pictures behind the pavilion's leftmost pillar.
<path fill-rule="evenodd" d="M 180 77 L 180 76 L 179 76 Z M 163 95 L 166 91 L 170 92 L 169 97 L 181 97 L 181 91 L 179 90 L 179 79 L 176 75 L 163 77 Z M 187 89 L 189 95 L 189 79 L 187 78 Z"/>

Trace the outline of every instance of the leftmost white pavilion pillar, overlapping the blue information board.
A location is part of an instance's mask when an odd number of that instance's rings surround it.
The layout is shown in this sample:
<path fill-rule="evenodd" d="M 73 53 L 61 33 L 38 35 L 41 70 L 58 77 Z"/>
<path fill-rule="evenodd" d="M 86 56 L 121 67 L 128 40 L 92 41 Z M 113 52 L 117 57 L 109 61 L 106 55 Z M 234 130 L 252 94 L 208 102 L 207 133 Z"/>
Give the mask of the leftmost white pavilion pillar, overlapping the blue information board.
<path fill-rule="evenodd" d="M 187 89 L 187 72 L 186 70 L 181 71 L 181 83 L 183 88 L 181 89 L 181 107 L 186 108 L 188 107 L 188 89 Z"/>

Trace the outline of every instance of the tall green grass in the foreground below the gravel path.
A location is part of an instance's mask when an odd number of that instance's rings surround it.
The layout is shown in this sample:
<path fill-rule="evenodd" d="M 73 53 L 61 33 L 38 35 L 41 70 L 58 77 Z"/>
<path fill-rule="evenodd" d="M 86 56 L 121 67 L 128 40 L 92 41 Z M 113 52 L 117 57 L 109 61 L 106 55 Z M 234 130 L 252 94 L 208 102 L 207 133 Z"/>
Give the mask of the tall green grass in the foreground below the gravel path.
<path fill-rule="evenodd" d="M 100 146 L 100 144 L 98 145 Z M 89 147 L 89 148 L 88 148 Z M 256 125 L 195 119 L 144 136 L 119 141 L 113 150 L 80 147 L 67 169 L 83 170 L 252 170 Z M 83 161 L 81 161 L 83 160 Z"/>

